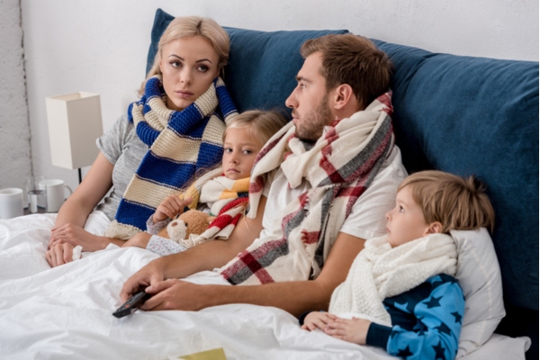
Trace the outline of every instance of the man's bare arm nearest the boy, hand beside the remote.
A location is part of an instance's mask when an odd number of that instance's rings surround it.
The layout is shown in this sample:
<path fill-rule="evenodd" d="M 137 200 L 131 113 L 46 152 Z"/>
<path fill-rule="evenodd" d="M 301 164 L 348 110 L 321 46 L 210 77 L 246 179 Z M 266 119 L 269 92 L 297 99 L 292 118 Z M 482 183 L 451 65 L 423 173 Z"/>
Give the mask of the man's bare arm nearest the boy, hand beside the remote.
<path fill-rule="evenodd" d="M 155 293 L 143 310 L 197 311 L 229 303 L 274 306 L 299 316 L 310 309 L 328 309 L 334 289 L 345 281 L 365 240 L 339 233 L 319 277 L 312 281 L 252 286 L 196 285 L 182 281 L 155 282 L 148 293 Z M 203 245 L 203 244 L 202 244 Z"/>

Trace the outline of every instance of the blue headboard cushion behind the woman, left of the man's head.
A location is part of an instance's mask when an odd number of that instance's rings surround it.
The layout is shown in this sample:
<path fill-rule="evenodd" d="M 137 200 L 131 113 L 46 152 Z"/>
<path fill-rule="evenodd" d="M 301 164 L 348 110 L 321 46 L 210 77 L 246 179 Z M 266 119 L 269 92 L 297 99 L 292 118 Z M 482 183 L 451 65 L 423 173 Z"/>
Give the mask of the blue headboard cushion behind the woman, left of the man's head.
<path fill-rule="evenodd" d="M 157 42 L 175 17 L 157 9 L 148 49 L 147 74 L 154 62 Z M 300 47 L 305 40 L 338 31 L 252 31 L 224 27 L 230 37 L 225 83 L 239 112 L 249 109 L 285 109 L 303 64 Z M 290 113 L 290 112 L 289 112 Z"/>

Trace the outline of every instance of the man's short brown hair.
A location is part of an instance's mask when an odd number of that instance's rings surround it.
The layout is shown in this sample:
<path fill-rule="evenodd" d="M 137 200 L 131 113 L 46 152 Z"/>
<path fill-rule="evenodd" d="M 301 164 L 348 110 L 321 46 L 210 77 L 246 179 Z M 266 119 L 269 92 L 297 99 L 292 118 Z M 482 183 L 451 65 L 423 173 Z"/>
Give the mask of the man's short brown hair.
<path fill-rule="evenodd" d="M 320 74 L 326 80 L 327 91 L 342 84 L 350 85 L 359 110 L 388 91 L 392 62 L 371 40 L 354 34 L 329 34 L 307 40 L 300 52 L 303 58 L 320 52 Z"/>

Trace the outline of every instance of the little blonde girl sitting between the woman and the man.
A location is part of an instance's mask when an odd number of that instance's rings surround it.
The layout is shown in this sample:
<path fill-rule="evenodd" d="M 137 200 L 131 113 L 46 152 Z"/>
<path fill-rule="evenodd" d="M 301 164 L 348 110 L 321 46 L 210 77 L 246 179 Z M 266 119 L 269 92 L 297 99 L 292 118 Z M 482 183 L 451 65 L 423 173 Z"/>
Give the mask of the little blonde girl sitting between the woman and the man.
<path fill-rule="evenodd" d="M 157 206 L 148 219 L 147 236 L 130 238 L 123 247 L 146 247 L 159 255 L 175 254 L 186 246 L 194 244 L 189 239 L 178 244 L 170 239 L 157 236 L 170 220 L 184 212 L 185 208 L 209 212 L 211 216 L 230 202 L 241 211 L 247 205 L 249 175 L 257 154 L 275 132 L 286 124 L 284 116 L 278 112 L 252 110 L 236 116 L 223 133 L 223 157 L 221 167 L 197 176 L 189 188 L 180 195 L 168 196 Z M 246 201 L 242 201 L 245 199 Z M 239 200 L 239 201 L 238 201 Z M 239 207 L 239 208 L 238 208 Z"/>

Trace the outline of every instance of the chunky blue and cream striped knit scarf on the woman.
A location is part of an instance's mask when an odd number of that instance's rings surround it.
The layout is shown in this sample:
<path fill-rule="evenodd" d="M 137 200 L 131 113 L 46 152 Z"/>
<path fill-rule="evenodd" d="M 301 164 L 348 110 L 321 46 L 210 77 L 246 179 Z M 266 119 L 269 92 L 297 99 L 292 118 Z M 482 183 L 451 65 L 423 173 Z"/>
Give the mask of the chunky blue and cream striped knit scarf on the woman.
<path fill-rule="evenodd" d="M 219 77 L 181 112 L 166 107 L 161 76 L 150 77 L 145 94 L 128 109 L 128 119 L 135 125 L 139 139 L 148 145 L 148 153 L 104 235 L 127 239 L 145 230 L 146 221 L 166 196 L 178 193 L 197 170 L 220 161 L 225 122 L 236 114 Z"/>

